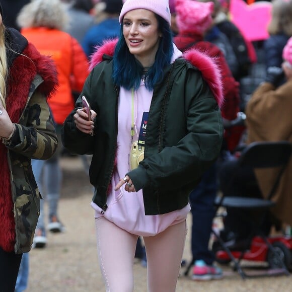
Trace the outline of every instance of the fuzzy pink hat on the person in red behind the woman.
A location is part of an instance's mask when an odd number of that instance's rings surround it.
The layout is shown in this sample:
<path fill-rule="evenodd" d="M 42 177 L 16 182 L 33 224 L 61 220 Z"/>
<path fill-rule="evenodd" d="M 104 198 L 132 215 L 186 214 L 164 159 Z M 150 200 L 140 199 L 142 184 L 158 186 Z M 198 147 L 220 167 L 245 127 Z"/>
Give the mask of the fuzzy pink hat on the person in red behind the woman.
<path fill-rule="evenodd" d="M 212 24 L 213 2 L 175 0 L 176 24 L 179 33 L 203 35 Z"/>

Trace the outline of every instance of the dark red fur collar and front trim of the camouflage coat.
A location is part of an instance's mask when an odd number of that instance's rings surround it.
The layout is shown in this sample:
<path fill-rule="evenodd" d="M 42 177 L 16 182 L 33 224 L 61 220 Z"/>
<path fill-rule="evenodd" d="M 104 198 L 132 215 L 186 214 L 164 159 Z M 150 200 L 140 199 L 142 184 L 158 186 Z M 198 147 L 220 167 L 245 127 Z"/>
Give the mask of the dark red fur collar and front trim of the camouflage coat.
<path fill-rule="evenodd" d="M 39 74 L 44 82 L 39 86 L 46 97 L 56 90 L 57 73 L 53 60 L 44 57 L 32 44 L 19 55 L 10 68 L 8 79 L 7 111 L 14 123 L 18 123 L 27 103 L 31 82 Z M 11 194 L 10 170 L 7 160 L 7 148 L 0 142 L 0 247 L 13 251 L 15 244 L 15 221 Z"/>

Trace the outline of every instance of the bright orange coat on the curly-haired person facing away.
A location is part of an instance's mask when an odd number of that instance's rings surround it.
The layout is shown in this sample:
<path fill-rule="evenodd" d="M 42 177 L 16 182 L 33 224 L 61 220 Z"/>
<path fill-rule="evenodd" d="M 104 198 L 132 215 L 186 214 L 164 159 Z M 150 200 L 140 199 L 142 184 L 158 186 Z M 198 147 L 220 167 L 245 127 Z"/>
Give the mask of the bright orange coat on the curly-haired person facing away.
<path fill-rule="evenodd" d="M 25 28 L 21 33 L 41 54 L 52 56 L 55 61 L 59 87 L 48 103 L 54 121 L 63 124 L 75 107 L 72 91 L 81 92 L 89 74 L 86 54 L 75 38 L 56 29 Z"/>

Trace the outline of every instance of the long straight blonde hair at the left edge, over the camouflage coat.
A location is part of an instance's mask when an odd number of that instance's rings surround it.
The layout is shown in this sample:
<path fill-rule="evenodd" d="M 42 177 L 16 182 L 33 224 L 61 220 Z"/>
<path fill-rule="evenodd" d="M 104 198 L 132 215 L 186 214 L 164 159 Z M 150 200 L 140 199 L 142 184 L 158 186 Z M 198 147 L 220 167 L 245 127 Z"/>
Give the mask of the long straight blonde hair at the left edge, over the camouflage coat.
<path fill-rule="evenodd" d="M 8 75 L 8 65 L 6 58 L 6 45 L 5 45 L 5 26 L 0 25 L 0 99 L 4 108 L 6 108 L 6 81 Z"/>

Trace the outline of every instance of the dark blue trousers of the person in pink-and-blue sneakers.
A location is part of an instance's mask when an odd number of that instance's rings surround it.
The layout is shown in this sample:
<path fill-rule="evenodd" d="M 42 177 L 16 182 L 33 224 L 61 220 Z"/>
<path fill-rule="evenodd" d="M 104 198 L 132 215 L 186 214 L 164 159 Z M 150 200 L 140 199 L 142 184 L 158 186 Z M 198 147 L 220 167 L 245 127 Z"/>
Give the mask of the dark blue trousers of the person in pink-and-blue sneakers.
<path fill-rule="evenodd" d="M 191 250 L 193 260 L 204 260 L 211 265 L 214 254 L 208 249 L 213 218 L 215 215 L 214 199 L 217 193 L 216 163 L 205 172 L 202 181 L 190 193 L 192 212 Z"/>

